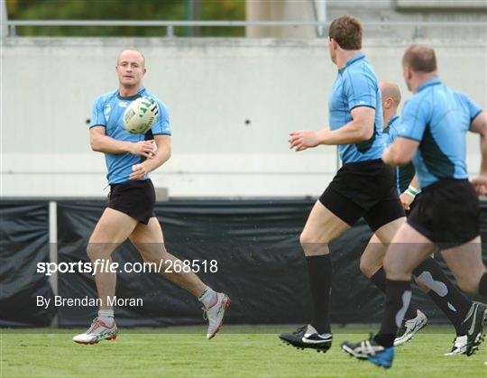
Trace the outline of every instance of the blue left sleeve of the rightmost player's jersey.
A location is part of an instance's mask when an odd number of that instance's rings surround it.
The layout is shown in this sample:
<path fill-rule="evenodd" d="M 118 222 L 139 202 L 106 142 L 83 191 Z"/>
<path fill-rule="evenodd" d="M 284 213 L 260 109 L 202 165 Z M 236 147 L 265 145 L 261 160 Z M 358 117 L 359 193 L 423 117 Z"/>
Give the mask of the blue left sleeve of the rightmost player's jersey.
<path fill-rule="evenodd" d="M 411 97 L 402 107 L 398 136 L 421 142 L 427 126 L 427 106 L 419 97 Z"/>

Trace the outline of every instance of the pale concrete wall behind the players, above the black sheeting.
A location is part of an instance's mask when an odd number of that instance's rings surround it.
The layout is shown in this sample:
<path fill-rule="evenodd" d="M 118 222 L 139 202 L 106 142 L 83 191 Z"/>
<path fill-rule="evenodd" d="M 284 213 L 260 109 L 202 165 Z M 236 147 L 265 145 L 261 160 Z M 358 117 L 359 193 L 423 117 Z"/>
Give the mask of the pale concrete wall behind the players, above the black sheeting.
<path fill-rule="evenodd" d="M 404 97 L 400 56 L 410 42 L 364 41 L 377 74 Z M 446 83 L 485 107 L 485 37 L 427 43 Z M 3 196 L 106 195 L 87 119 L 93 99 L 116 88 L 115 57 L 128 46 L 144 52 L 145 85 L 170 109 L 173 156 L 152 174 L 170 196 L 317 196 L 333 177 L 334 147 L 288 147 L 290 131 L 327 124 L 336 69 L 326 41 L 11 38 L 1 52 Z M 478 151 L 472 136 L 473 172 Z"/>

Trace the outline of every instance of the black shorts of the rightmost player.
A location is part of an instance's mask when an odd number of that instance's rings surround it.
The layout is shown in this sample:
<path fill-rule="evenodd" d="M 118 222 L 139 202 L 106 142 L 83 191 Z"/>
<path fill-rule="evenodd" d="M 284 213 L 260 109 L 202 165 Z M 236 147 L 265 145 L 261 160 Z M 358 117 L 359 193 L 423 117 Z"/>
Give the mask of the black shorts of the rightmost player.
<path fill-rule="evenodd" d="M 441 179 L 421 191 L 409 226 L 439 248 L 453 248 L 480 235 L 479 199 L 468 180 Z"/>

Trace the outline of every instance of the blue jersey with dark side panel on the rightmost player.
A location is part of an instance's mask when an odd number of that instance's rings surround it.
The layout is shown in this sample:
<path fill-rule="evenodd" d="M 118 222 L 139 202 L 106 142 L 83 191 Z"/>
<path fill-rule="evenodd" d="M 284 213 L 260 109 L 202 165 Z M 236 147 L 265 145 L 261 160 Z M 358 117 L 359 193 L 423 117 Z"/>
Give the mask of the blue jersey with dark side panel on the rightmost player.
<path fill-rule="evenodd" d="M 439 179 L 467 179 L 465 134 L 482 109 L 432 78 L 402 109 L 400 136 L 419 143 L 413 163 L 425 189 Z"/>

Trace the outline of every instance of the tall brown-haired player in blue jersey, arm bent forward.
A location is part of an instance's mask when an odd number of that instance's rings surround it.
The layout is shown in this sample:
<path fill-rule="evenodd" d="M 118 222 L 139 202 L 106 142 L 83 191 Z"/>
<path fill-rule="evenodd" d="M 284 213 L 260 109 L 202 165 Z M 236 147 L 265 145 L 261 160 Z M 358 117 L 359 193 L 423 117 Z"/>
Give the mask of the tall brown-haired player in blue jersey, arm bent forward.
<path fill-rule="evenodd" d="M 313 300 L 313 319 L 280 338 L 291 346 L 326 352 L 333 335 L 329 320 L 332 264 L 328 244 L 364 217 L 382 243 L 404 222 L 394 170 L 381 161 L 381 93 L 362 48 L 362 24 L 342 16 L 330 24 L 329 52 L 338 68 L 328 100 L 330 129 L 295 131 L 290 148 L 303 151 L 319 144 L 338 145 L 343 167 L 317 200 L 300 235 Z"/>

